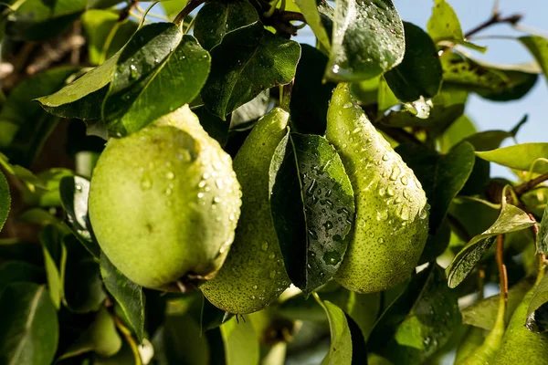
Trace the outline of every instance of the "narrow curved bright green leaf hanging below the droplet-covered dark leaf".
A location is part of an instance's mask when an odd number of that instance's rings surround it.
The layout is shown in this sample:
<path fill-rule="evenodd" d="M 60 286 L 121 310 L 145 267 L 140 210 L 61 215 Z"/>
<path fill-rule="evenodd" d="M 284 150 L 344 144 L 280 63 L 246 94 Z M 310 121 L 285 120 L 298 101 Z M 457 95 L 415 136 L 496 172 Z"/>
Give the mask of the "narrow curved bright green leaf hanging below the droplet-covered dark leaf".
<path fill-rule="evenodd" d="M 321 365 L 350 365 L 353 360 L 353 342 L 348 321 L 341 308 L 318 298 L 329 319 L 331 346 Z"/>

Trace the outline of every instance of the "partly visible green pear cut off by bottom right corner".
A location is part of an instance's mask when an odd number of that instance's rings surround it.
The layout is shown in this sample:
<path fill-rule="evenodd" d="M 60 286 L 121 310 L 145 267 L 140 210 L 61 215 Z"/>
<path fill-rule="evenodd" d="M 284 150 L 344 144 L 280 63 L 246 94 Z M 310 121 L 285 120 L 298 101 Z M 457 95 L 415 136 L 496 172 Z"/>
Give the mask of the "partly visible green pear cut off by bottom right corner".
<path fill-rule="evenodd" d="M 527 309 L 535 287 L 523 297 L 522 303 L 511 316 L 508 328 L 506 328 L 502 338 L 501 349 L 490 363 L 496 365 L 548 364 L 546 355 L 548 353 L 548 336 L 545 333 L 532 333 L 525 327 Z"/>

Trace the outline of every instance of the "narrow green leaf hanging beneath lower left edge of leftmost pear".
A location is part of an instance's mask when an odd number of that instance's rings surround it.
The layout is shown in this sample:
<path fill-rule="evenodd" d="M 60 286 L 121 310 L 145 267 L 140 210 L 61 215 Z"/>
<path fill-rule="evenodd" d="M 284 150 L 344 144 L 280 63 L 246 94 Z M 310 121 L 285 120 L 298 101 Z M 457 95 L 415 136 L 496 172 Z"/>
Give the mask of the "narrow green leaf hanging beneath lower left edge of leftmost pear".
<path fill-rule="evenodd" d="M 100 255 L 100 276 L 105 287 L 116 299 L 125 317 L 132 325 L 139 342 L 142 342 L 144 334 L 144 303 L 145 297 L 142 294 L 142 287 L 133 283 L 126 276 L 112 265 L 109 258 Z"/>

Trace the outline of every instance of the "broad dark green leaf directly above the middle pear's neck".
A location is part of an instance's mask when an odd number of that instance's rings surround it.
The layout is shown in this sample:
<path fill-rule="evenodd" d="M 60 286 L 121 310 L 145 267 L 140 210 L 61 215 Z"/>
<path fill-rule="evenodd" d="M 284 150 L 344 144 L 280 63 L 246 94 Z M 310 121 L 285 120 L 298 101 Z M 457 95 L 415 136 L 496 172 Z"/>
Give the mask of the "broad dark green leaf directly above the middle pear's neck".
<path fill-rule="evenodd" d="M 290 83 L 300 46 L 274 36 L 257 22 L 228 33 L 211 50 L 211 57 L 211 74 L 202 89 L 202 99 L 207 109 L 225 119 L 262 90 Z"/>

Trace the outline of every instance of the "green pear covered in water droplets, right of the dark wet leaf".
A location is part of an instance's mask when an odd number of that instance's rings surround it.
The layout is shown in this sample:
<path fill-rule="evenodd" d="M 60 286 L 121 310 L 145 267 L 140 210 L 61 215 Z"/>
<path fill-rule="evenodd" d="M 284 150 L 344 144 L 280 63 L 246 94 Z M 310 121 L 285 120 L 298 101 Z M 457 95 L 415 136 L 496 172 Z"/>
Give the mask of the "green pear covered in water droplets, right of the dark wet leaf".
<path fill-rule="evenodd" d="M 356 217 L 335 279 L 349 290 L 394 287 L 415 268 L 427 240 L 427 197 L 415 174 L 374 129 L 348 84 L 334 90 L 327 139 L 353 186 Z"/>

